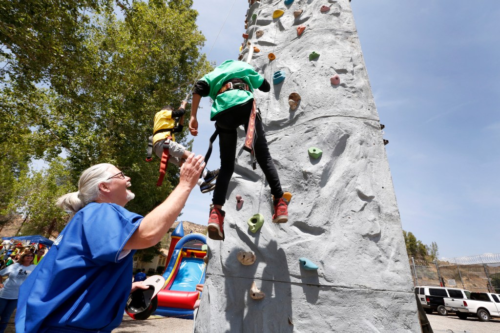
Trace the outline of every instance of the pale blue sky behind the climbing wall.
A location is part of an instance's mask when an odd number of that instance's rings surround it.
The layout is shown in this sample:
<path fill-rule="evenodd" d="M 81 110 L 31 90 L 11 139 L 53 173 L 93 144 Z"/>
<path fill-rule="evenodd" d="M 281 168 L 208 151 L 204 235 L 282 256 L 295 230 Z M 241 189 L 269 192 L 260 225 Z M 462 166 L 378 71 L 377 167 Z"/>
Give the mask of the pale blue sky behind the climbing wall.
<path fill-rule="evenodd" d="M 247 1 L 193 6 L 203 52 L 213 46 L 208 59 L 235 59 Z M 403 229 L 437 242 L 439 258 L 499 253 L 500 1 L 352 0 L 351 7 Z M 193 151 L 204 154 L 213 122 L 208 98 L 201 106 Z M 217 147 L 209 169 L 218 167 Z M 194 188 L 180 219 L 206 224 L 210 202 Z"/>

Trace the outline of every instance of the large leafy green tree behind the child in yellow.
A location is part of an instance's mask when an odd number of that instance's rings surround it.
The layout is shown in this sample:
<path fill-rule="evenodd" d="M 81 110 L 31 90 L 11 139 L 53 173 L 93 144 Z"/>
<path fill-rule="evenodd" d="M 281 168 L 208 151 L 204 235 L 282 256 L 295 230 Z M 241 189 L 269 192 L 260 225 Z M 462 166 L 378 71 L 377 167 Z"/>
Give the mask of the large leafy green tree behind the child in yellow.
<path fill-rule="evenodd" d="M 24 213 L 23 233 L 60 231 L 66 217 L 55 198 L 100 162 L 131 177 L 136 198 L 127 209 L 146 214 L 164 200 L 178 168 L 169 165 L 163 186 L 155 186 L 158 161 L 144 161 L 152 118 L 166 103 L 179 105 L 211 69 L 191 6 L 192 0 L 0 5 L 0 223 Z M 176 140 L 189 148 L 186 130 Z M 49 166 L 36 171 L 30 161 L 37 158 Z"/>

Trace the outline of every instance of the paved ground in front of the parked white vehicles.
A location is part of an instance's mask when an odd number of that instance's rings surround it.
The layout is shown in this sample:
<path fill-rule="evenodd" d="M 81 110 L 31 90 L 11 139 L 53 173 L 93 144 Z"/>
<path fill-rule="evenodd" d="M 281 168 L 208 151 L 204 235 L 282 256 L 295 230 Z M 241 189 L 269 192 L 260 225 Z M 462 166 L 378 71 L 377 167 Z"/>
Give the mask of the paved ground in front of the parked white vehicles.
<path fill-rule="evenodd" d="M 479 321 L 477 318 L 459 319 L 454 314 L 446 316 L 435 314 L 427 314 L 430 327 L 434 332 L 464 332 L 467 333 L 498 333 L 500 332 L 500 319 L 491 319 L 488 322 Z"/>

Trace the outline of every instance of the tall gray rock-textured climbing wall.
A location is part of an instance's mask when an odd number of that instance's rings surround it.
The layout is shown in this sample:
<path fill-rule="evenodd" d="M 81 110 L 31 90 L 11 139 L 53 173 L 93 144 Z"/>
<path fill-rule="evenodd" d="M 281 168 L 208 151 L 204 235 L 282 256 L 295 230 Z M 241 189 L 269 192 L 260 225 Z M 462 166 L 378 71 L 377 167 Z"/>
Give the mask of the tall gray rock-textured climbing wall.
<path fill-rule="evenodd" d="M 288 2 L 288 1 L 287 1 Z M 329 10 L 321 11 L 321 6 Z M 275 9 L 283 15 L 272 18 Z M 303 9 L 294 17 L 293 12 Z M 323 8 L 324 9 L 324 8 Z M 256 20 L 251 16 L 256 14 Z M 289 221 L 271 222 L 269 186 L 238 148 L 224 206 L 225 241 L 210 249 L 196 332 L 417 332 L 415 296 L 382 132 L 348 0 L 262 0 L 247 13 L 250 61 L 271 91 L 255 93 Z M 243 23 L 242 23 L 243 24 Z M 305 30 L 297 36 L 296 27 Z M 257 37 L 256 31 L 263 34 Z M 246 40 L 245 40 L 246 42 Z M 315 51 L 319 57 L 309 60 Z M 242 50 L 246 59 L 248 48 Z M 270 61 L 272 52 L 275 59 Z M 272 84 L 273 73 L 285 79 Z M 340 83 L 330 83 L 338 74 Z M 298 92 L 295 110 L 288 95 Z M 244 132 L 239 131 L 238 147 Z M 322 150 L 319 158 L 309 147 Z M 244 200 L 236 209 L 235 195 Z M 247 219 L 265 221 L 252 233 Z M 242 265 L 238 251 L 253 251 Z M 318 265 L 305 270 L 299 258 Z M 249 296 L 255 281 L 265 293 Z"/>

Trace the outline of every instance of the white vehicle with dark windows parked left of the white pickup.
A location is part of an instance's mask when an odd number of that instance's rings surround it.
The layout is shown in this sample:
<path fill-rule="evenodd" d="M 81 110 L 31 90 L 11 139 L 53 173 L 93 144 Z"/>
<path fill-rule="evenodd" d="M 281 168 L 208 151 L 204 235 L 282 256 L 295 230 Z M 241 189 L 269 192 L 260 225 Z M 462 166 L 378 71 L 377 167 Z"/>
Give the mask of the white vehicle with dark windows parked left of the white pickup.
<path fill-rule="evenodd" d="M 430 314 L 433 311 L 437 311 L 440 315 L 446 315 L 448 311 L 456 312 L 458 308 L 465 309 L 463 303 L 460 303 L 460 305 L 458 300 L 467 299 L 470 295 L 470 291 L 450 287 L 417 285 L 415 287 L 415 294 L 418 296 L 425 313 Z M 454 306 L 446 308 L 444 304 L 445 297 L 453 299 L 453 301 L 449 300 L 449 302 Z"/>

